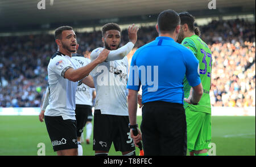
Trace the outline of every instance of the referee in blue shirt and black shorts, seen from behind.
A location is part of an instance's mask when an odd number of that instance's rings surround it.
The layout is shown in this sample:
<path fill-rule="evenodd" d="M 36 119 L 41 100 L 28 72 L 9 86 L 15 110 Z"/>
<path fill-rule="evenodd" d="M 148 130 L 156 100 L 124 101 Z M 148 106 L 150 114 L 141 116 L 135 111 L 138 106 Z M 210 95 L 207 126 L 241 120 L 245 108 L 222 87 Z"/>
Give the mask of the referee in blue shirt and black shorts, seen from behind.
<path fill-rule="evenodd" d="M 135 144 L 142 139 L 145 156 L 187 154 L 184 76 L 192 86 L 191 103 L 196 105 L 203 95 L 199 61 L 191 50 L 175 42 L 179 30 L 179 15 L 174 10 L 162 11 L 156 24 L 159 37 L 139 48 L 131 59 L 127 84 L 129 127 Z M 141 131 L 137 129 L 139 134 L 134 136 L 141 85 Z"/>

